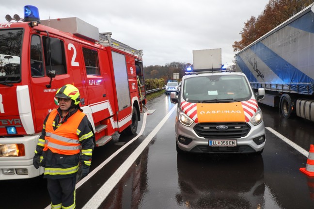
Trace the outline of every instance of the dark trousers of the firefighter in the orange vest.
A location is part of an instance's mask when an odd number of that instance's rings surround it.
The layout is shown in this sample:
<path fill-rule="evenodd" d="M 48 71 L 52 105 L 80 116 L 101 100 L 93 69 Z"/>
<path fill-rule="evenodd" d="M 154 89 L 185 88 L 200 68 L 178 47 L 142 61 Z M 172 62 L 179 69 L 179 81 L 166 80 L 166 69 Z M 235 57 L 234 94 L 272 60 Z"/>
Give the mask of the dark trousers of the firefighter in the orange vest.
<path fill-rule="evenodd" d="M 75 209 L 76 177 L 50 179 L 47 178 L 47 189 L 51 199 L 52 209 L 70 207 Z"/>

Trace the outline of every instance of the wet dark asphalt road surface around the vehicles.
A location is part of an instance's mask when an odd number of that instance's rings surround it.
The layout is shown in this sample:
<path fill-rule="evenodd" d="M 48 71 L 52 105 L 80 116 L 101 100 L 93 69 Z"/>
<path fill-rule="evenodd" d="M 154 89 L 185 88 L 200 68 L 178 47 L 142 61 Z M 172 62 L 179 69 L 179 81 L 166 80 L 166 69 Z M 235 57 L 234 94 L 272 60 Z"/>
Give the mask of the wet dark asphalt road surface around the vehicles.
<path fill-rule="evenodd" d="M 155 109 L 147 116 L 143 134 L 77 189 L 77 208 L 116 175 L 122 163 L 154 133 L 159 122 L 172 110 L 170 96 L 148 104 Z M 314 144 L 314 123 L 301 118 L 284 119 L 277 109 L 261 106 L 266 127 L 309 151 Z M 143 115 L 141 115 L 142 117 Z M 307 157 L 287 145 L 268 129 L 261 156 L 177 155 L 174 132 L 175 112 L 153 136 L 126 174 L 108 196 L 94 201 L 100 209 L 313 209 L 313 179 L 299 172 Z M 141 124 L 139 124 L 138 132 Z M 91 170 L 132 137 L 113 136 L 109 144 L 97 147 Z M 1 181 L 0 209 L 43 209 L 49 204 L 46 180 Z M 104 201 L 102 200 L 104 199 Z"/>

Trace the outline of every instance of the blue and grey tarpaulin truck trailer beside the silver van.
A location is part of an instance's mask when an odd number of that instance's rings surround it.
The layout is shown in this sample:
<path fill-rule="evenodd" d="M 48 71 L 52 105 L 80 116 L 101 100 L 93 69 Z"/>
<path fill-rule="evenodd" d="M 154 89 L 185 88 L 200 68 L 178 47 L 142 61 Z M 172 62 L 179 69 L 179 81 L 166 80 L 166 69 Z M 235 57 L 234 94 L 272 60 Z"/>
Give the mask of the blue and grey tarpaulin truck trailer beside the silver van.
<path fill-rule="evenodd" d="M 235 55 L 236 71 L 255 90 L 261 103 L 314 121 L 314 3 Z"/>

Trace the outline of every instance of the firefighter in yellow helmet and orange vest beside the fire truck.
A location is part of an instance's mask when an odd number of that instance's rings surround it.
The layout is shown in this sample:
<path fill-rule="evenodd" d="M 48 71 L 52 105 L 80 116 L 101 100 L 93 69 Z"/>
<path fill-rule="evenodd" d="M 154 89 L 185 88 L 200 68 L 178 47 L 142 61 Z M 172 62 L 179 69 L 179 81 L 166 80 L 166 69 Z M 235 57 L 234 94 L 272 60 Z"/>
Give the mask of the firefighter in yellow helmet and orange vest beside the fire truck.
<path fill-rule="evenodd" d="M 33 165 L 36 169 L 45 167 L 51 208 L 75 209 L 75 184 L 89 173 L 94 134 L 79 107 L 80 97 L 75 86 L 64 85 L 55 97 L 59 108 L 44 120 Z"/>

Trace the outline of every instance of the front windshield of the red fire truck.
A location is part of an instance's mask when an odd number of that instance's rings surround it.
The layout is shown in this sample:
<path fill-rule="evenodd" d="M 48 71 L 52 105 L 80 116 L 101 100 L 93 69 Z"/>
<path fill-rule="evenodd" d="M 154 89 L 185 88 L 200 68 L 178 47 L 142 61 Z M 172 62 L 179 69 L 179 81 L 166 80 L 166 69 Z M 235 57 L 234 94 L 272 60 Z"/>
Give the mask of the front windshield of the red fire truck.
<path fill-rule="evenodd" d="M 22 29 L 0 30 L 0 82 L 20 80 Z"/>

